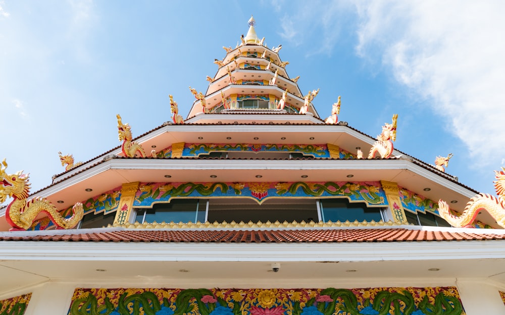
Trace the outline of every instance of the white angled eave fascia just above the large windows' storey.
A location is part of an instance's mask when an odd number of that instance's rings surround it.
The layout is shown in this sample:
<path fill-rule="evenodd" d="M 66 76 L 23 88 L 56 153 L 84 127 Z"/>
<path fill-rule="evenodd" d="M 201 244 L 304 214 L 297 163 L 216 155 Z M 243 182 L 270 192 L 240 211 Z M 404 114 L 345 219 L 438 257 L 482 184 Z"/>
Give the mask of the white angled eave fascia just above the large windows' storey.
<path fill-rule="evenodd" d="M 37 195 L 52 195 L 69 185 L 76 184 L 86 178 L 92 177 L 110 169 L 193 169 L 193 170 L 384 170 L 405 169 L 425 177 L 433 182 L 445 186 L 465 197 L 471 198 L 475 193 L 458 183 L 433 173 L 409 160 L 214 160 L 214 159 L 109 159 L 98 165 L 92 166 L 81 173 L 64 179 Z"/>

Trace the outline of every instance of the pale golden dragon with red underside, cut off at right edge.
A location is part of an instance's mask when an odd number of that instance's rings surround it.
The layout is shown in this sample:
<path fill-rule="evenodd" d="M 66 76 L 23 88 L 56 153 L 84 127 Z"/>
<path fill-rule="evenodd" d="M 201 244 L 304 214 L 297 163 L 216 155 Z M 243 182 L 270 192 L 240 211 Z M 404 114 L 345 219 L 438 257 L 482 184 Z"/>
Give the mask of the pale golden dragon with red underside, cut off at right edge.
<path fill-rule="evenodd" d="M 450 214 L 449 205 L 440 199 L 438 201 L 440 216 L 454 227 L 467 227 L 475 220 L 479 211 L 485 210 L 496 220 L 499 226 L 505 228 L 505 168 L 502 167 L 501 171 L 495 171 L 495 175 L 494 189 L 498 198 L 488 194 L 476 195 L 470 199 L 465 211 L 459 217 Z"/>

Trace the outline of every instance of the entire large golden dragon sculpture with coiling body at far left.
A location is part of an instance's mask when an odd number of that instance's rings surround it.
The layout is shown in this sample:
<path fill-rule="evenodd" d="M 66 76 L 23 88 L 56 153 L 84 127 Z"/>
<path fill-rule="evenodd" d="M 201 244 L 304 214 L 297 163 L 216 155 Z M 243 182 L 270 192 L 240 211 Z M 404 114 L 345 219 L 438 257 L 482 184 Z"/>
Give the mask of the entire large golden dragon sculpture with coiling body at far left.
<path fill-rule="evenodd" d="M 65 219 L 58 209 L 45 198 L 34 198 L 27 201 L 30 194 L 28 175 L 23 174 L 23 171 L 7 174 L 5 159 L 2 164 L 4 167 L 0 165 L 0 203 L 6 201 L 7 197 L 14 199 L 7 206 L 5 212 L 5 218 L 12 226 L 11 231 L 27 230 L 41 212 L 45 212 L 58 228 L 63 229 L 73 228 L 82 219 L 84 210 L 81 203 L 76 203 L 72 208 L 72 217 Z"/>

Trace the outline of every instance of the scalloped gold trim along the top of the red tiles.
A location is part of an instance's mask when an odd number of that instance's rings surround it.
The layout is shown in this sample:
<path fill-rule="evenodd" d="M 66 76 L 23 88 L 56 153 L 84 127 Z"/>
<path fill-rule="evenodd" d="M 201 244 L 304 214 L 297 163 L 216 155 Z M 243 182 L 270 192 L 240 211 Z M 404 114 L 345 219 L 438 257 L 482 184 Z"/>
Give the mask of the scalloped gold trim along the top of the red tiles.
<path fill-rule="evenodd" d="M 161 223 L 158 223 L 158 222 L 152 222 L 152 223 L 147 223 L 147 222 L 144 222 L 144 223 L 139 223 L 139 222 L 135 222 L 135 223 L 127 223 L 127 224 L 118 224 L 118 223 L 114 223 L 112 226 L 109 224 L 108 227 L 123 227 L 123 228 L 128 228 L 128 229 L 203 229 L 203 228 L 311 228 L 311 227 L 365 227 L 365 226 L 369 226 L 369 227 L 377 227 L 377 226 L 397 226 L 398 224 L 397 223 L 394 223 L 392 221 L 388 221 L 388 222 L 384 222 L 384 221 L 370 221 L 370 222 L 367 222 L 367 221 L 363 221 L 363 222 L 359 222 L 358 220 L 356 221 L 353 221 L 353 222 L 349 222 L 349 221 L 345 221 L 345 222 L 340 222 L 340 221 L 337 221 L 337 222 L 314 222 L 314 221 L 311 221 L 311 222 L 305 222 L 305 221 L 301 221 L 301 222 L 296 222 L 296 221 L 293 221 L 293 222 L 287 222 L 287 221 L 284 221 L 284 222 L 279 222 L 279 221 L 275 221 L 275 222 L 270 222 L 270 221 L 267 221 L 265 223 L 261 222 L 261 221 L 258 221 L 258 222 L 252 222 L 252 221 L 249 221 L 249 222 L 243 222 L 243 221 L 240 221 L 240 222 L 235 222 L 235 221 L 231 221 L 230 223 L 226 222 L 226 221 L 223 221 L 221 223 L 219 222 L 214 222 L 214 223 L 211 223 L 211 222 L 196 222 L 196 223 L 192 223 L 192 222 L 179 222 L 179 223 L 175 223 L 175 222 L 170 222 L 170 223 L 166 223 L 166 222 L 161 222 Z"/>

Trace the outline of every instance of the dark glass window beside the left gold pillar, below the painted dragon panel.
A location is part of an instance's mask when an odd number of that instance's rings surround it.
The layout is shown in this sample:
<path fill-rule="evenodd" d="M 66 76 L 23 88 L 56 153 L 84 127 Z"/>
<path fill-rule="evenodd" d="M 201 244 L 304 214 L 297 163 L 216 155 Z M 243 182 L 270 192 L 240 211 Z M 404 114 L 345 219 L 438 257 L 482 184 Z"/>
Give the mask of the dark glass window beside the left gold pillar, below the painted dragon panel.
<path fill-rule="evenodd" d="M 204 208 L 199 208 L 197 199 L 174 199 L 168 204 L 155 204 L 151 209 L 138 209 L 135 220 L 137 222 L 205 222 Z"/>

